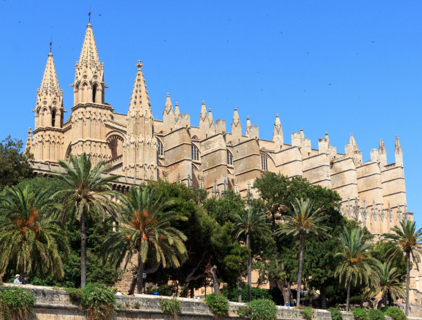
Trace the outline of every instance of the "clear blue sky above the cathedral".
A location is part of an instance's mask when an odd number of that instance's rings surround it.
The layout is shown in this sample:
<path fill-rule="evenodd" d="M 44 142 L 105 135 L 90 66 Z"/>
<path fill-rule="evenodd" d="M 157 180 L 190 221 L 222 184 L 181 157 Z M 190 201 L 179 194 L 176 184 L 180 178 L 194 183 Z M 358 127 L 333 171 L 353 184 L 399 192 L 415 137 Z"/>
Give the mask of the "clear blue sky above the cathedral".
<path fill-rule="evenodd" d="M 364 161 L 383 138 L 389 163 L 398 134 L 421 226 L 422 1 L 0 0 L 0 138 L 34 127 L 51 36 L 70 112 L 90 4 L 116 112 L 127 112 L 140 59 L 158 119 L 169 92 L 192 125 L 205 100 L 229 132 L 237 106 L 243 128 L 250 116 L 271 139 L 278 113 L 286 143 L 303 127 L 313 148 L 327 131 L 344 152 L 353 132 Z"/>

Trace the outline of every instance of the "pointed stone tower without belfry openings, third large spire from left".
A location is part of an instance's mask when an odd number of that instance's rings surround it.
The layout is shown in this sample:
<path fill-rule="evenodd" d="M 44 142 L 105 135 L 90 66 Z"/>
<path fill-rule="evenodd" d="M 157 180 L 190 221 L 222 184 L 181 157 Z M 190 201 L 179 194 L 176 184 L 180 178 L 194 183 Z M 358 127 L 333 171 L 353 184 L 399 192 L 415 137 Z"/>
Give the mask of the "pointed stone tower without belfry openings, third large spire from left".
<path fill-rule="evenodd" d="M 154 118 L 144 74 L 138 60 L 134 90 L 127 112 L 127 134 L 123 143 L 123 172 L 127 177 L 156 180 L 158 177 L 157 140 Z"/>

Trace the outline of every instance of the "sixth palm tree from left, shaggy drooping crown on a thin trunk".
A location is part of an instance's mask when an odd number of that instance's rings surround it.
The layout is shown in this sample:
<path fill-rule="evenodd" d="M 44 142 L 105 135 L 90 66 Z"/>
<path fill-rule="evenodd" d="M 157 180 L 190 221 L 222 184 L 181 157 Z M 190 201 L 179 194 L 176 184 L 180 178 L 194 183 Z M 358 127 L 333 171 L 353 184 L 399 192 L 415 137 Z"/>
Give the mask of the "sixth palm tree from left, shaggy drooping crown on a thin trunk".
<path fill-rule="evenodd" d="M 363 236 L 360 228 L 349 231 L 345 227 L 339 237 L 341 251 L 334 256 L 340 258 L 334 276 L 338 276 L 340 283 L 344 279 L 347 287 L 347 311 L 350 310 L 351 283 L 355 281 L 355 285 L 357 285 L 364 281 L 367 284 L 369 278 L 374 279 L 376 276 L 372 267 L 379 264 L 378 260 L 369 254 L 368 249 L 371 245 L 365 242 Z"/>

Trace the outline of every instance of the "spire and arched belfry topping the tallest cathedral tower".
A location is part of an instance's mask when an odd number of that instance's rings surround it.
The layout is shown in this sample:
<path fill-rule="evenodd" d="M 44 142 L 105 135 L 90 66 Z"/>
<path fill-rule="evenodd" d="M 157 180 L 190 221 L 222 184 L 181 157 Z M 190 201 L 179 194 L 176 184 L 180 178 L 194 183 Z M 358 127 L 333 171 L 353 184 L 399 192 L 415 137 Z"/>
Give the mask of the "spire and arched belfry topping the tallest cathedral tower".
<path fill-rule="evenodd" d="M 100 62 L 91 24 L 86 26 L 84 43 L 75 65 L 73 83 L 74 105 L 98 103 L 104 105 L 104 64 Z"/>

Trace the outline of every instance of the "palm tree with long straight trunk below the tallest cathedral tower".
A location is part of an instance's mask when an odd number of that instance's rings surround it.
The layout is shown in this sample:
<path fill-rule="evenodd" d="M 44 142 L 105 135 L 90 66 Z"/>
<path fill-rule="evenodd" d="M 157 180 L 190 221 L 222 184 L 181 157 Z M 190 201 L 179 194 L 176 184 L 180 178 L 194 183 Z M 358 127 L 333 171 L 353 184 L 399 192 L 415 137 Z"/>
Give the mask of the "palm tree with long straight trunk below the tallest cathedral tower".
<path fill-rule="evenodd" d="M 93 168 L 91 158 L 83 153 L 80 157 L 71 154 L 71 163 L 59 160 L 63 169 L 57 171 L 57 179 L 62 181 L 63 190 L 57 191 L 55 197 L 64 201 L 64 219 L 76 218 L 80 222 L 81 252 L 80 272 L 81 287 L 86 284 L 86 217 L 97 213 L 104 217 L 107 213 L 116 214 L 116 202 L 111 197 L 121 198 L 120 193 L 111 190 L 110 181 L 118 178 L 116 175 L 104 175 L 110 166 L 104 166 L 104 161 L 99 161 Z M 91 170 L 92 169 L 92 170 Z"/>

